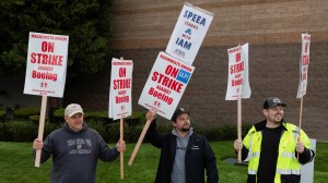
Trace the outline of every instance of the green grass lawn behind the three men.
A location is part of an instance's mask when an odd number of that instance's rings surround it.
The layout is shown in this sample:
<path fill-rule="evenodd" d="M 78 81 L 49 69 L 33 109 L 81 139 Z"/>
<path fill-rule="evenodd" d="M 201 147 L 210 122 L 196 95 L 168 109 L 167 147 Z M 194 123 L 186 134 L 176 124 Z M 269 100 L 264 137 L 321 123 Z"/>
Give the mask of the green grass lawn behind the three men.
<path fill-rule="evenodd" d="M 247 167 L 234 166 L 224 160 L 235 157 L 233 142 L 212 142 L 216 155 L 219 178 L 222 183 L 245 183 Z M 109 147 L 114 145 L 110 144 Z M 160 150 L 150 144 L 142 144 L 132 166 L 128 166 L 134 144 L 128 144 L 125 151 L 125 178 L 120 180 L 119 157 L 116 161 L 105 163 L 98 161 L 97 183 L 151 183 L 157 169 Z M 317 143 L 315 158 L 315 183 L 325 183 L 328 180 L 328 144 Z M 1 183 L 44 183 L 49 182 L 51 159 L 34 167 L 32 157 L 32 143 L 0 142 L 0 182 Z M 83 172 L 81 172 L 83 173 Z"/>

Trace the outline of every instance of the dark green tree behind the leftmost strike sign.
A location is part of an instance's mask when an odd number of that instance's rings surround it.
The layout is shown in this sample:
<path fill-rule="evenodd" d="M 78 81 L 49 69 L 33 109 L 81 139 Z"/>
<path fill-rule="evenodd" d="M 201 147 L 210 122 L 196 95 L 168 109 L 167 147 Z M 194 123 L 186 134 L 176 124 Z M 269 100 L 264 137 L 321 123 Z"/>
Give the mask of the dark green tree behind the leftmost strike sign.
<path fill-rule="evenodd" d="M 109 54 L 110 0 L 0 2 L 0 75 L 25 70 L 28 33 L 69 36 L 71 73 L 96 73 Z"/>

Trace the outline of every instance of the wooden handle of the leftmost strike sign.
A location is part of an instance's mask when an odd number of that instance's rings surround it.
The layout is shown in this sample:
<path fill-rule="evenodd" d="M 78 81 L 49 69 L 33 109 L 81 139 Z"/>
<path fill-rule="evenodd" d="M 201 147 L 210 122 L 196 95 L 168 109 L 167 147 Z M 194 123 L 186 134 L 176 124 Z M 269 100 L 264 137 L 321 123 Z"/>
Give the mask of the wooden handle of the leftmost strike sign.
<path fill-rule="evenodd" d="M 38 122 L 38 134 L 37 134 L 37 138 L 39 139 L 44 138 L 46 109 L 47 109 L 47 96 L 43 96 L 42 109 L 40 109 L 40 115 Z M 42 155 L 42 149 L 36 150 L 34 166 L 37 168 L 39 168 L 40 155 Z"/>

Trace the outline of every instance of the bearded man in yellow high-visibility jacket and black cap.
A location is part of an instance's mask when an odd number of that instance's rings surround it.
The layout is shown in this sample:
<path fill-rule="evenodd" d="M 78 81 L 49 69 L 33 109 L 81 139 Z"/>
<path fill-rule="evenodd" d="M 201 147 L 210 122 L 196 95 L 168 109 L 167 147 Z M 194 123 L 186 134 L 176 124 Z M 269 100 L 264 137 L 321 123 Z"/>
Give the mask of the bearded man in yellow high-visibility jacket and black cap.
<path fill-rule="evenodd" d="M 284 107 L 277 97 L 266 99 L 266 119 L 254 124 L 243 142 L 234 143 L 235 150 L 242 150 L 242 159 L 249 155 L 247 183 L 300 183 L 301 164 L 315 156 L 305 132 L 283 120 Z"/>

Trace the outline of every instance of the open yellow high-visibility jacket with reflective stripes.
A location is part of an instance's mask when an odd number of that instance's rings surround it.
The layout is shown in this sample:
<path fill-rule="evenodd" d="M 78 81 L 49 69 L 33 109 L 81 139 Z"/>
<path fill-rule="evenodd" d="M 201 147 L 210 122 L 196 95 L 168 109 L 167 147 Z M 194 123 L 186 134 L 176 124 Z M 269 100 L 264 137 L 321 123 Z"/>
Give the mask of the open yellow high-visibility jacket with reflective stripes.
<path fill-rule="evenodd" d="M 261 152 L 261 141 L 262 133 L 261 130 L 265 127 L 267 121 L 259 122 L 255 124 L 249 131 L 248 134 L 244 137 L 243 144 L 243 159 L 247 156 L 249 157 L 248 162 L 248 182 L 256 183 L 256 175 L 258 171 L 260 152 Z M 281 183 L 285 180 L 291 181 L 291 178 L 295 180 L 294 182 L 300 182 L 301 180 L 301 163 L 304 164 L 313 160 L 315 154 L 314 150 L 311 149 L 311 143 L 307 135 L 301 130 L 300 139 L 304 143 L 306 147 L 303 154 L 300 154 L 297 160 L 296 154 L 296 144 L 298 138 L 300 129 L 294 124 L 282 122 L 283 130 L 282 135 L 279 143 L 279 152 L 278 152 L 278 161 L 276 168 L 276 176 L 274 183 Z M 245 155 L 247 154 L 247 156 Z M 253 181 L 249 181 L 253 180 Z"/>

